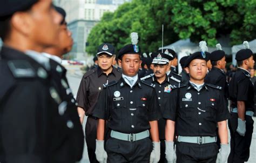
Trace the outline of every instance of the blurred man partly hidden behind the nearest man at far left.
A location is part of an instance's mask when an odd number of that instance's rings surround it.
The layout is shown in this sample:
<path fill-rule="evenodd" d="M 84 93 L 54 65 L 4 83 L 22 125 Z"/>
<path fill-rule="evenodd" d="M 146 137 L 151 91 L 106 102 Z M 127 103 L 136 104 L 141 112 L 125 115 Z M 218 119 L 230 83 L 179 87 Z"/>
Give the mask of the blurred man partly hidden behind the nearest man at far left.
<path fill-rule="evenodd" d="M 52 146 L 55 145 L 53 150 L 58 150 L 58 153 L 54 156 L 56 162 L 76 162 L 80 161 L 83 156 L 84 134 L 79 121 L 77 106 L 75 105 L 76 100 L 73 98 L 68 79 L 66 79 L 66 69 L 61 64 L 63 55 L 71 50 L 73 40 L 71 32 L 66 26 L 66 12 L 59 7 L 55 7 L 55 9 L 63 16 L 59 24 L 59 43 L 57 46 L 46 48 L 43 55 L 50 59 L 51 77 L 55 80 L 55 87 L 59 92 L 60 98 L 66 101 L 66 111 L 63 116 L 72 121 L 73 127 L 69 130 L 56 128 L 55 131 L 58 134 L 55 134 L 56 139 L 52 138 Z"/>

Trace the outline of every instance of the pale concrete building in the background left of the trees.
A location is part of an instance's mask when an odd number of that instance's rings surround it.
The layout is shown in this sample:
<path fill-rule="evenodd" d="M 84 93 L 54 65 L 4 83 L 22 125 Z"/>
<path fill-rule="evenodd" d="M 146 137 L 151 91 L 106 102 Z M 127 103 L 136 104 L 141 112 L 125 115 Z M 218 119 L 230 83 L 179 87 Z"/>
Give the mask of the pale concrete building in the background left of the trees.
<path fill-rule="evenodd" d="M 114 12 L 119 5 L 131 0 L 55 0 L 53 3 L 65 9 L 66 21 L 72 32 L 74 45 L 69 59 L 86 60 L 86 40 L 93 26 L 104 12 Z"/>

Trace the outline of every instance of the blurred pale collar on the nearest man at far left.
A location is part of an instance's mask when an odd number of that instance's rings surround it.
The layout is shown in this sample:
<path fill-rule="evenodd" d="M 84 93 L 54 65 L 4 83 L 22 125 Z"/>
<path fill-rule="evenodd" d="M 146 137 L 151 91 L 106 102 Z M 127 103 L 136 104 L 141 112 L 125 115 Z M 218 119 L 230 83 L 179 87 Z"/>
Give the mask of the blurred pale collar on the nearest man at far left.
<path fill-rule="evenodd" d="M 33 58 L 38 62 L 39 64 L 43 65 L 46 70 L 50 70 L 50 61 L 49 58 L 42 55 L 42 53 L 33 51 L 33 50 L 27 50 L 25 51 L 26 55 Z"/>

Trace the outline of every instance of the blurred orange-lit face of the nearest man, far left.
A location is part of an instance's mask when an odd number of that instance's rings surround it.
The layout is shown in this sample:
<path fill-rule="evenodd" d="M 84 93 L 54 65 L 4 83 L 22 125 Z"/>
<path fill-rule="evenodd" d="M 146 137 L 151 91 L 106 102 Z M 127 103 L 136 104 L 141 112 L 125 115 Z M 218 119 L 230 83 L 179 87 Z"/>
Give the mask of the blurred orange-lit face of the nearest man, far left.
<path fill-rule="evenodd" d="M 39 0 L 26 12 L 25 18 L 28 38 L 34 46 L 58 44 L 62 16 L 53 8 L 51 0 Z"/>

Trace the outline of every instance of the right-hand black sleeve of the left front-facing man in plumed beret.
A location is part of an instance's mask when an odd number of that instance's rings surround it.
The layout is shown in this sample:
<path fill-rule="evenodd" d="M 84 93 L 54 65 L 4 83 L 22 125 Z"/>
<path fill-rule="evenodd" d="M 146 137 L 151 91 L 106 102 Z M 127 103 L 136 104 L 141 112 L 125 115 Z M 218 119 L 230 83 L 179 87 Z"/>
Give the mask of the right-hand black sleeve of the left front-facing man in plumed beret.
<path fill-rule="evenodd" d="M 160 119 L 161 112 L 155 89 L 152 89 L 152 93 L 148 97 L 147 103 L 149 121 Z"/>

